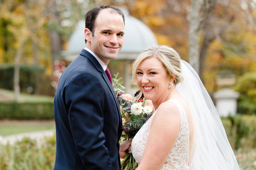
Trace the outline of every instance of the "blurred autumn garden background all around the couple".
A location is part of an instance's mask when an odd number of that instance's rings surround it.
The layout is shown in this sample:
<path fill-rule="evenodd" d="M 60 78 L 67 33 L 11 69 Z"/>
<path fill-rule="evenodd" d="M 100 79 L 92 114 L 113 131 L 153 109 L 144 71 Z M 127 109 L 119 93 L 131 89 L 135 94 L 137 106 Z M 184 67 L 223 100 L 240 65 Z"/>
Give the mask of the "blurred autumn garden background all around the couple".
<path fill-rule="evenodd" d="M 53 169 L 55 89 L 85 47 L 84 15 L 101 4 L 125 14 L 108 65 L 125 92 L 136 91 L 140 52 L 172 46 L 200 75 L 240 168 L 256 169 L 256 0 L 0 0 L 0 169 Z"/>

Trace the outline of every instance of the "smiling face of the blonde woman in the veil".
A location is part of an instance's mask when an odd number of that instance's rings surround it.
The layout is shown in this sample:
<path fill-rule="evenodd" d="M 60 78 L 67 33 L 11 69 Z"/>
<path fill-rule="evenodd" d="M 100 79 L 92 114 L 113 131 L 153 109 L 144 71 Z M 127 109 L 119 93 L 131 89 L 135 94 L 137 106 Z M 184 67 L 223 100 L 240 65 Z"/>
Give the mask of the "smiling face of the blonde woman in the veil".
<path fill-rule="evenodd" d="M 144 97 L 153 103 L 161 101 L 168 91 L 170 77 L 159 59 L 152 57 L 142 61 L 136 74 L 138 87 Z"/>

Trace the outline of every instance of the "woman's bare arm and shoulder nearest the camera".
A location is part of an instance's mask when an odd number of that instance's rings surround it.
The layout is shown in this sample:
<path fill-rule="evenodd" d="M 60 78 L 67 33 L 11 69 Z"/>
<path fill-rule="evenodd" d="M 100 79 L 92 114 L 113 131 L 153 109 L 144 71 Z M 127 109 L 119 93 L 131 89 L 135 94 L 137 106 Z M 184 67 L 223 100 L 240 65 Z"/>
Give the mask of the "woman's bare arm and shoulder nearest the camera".
<path fill-rule="evenodd" d="M 180 114 L 173 102 L 164 102 L 158 109 L 151 124 L 142 160 L 137 170 L 161 169 L 165 163 L 180 128 Z"/>

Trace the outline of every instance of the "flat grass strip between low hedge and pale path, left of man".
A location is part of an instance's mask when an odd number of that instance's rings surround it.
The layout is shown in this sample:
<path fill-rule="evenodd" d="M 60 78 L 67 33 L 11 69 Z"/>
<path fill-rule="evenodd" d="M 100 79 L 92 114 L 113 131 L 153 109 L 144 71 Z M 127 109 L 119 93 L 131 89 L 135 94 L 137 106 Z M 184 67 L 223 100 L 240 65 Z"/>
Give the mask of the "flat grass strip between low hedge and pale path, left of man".
<path fill-rule="evenodd" d="M 1 120 L 0 135 L 8 136 L 16 133 L 33 132 L 39 130 L 55 129 L 54 120 L 51 121 L 16 121 L 16 120 Z"/>

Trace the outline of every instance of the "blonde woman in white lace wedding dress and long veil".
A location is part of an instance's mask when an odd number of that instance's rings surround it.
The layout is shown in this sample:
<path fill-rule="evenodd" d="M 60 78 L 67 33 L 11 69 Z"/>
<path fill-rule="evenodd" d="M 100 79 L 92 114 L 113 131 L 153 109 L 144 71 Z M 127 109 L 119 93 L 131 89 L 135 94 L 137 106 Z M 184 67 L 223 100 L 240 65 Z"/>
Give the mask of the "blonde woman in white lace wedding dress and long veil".
<path fill-rule="evenodd" d="M 137 170 L 239 169 L 209 94 L 173 48 L 142 52 L 132 79 L 156 109 L 132 140 Z"/>

